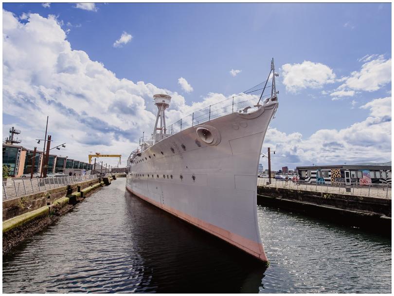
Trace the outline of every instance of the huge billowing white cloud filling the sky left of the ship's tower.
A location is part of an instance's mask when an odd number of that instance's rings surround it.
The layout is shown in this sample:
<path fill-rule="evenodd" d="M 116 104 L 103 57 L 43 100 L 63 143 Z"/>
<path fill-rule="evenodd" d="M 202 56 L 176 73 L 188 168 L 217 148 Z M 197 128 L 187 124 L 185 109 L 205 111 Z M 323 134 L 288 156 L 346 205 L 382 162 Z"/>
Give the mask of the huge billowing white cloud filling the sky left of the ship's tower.
<path fill-rule="evenodd" d="M 118 79 L 66 37 L 54 17 L 30 14 L 21 23 L 3 11 L 3 114 L 18 118 L 26 148 L 43 136 L 49 115 L 54 143 L 69 144 L 62 154 L 84 160 L 94 149 L 127 157 L 142 132 L 151 132 L 154 94 L 171 95 L 172 108 L 184 105 L 176 92 Z"/>

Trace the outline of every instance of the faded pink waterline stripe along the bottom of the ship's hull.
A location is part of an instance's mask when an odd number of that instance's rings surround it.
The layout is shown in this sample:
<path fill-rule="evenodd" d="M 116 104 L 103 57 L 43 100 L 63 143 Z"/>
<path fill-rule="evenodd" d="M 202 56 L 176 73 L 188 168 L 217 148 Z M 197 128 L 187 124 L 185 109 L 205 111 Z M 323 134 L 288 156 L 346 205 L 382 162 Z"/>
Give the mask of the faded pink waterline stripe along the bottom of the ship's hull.
<path fill-rule="evenodd" d="M 247 239 L 243 236 L 240 236 L 239 234 L 230 232 L 228 230 L 225 230 L 223 228 L 217 227 L 213 224 L 207 223 L 203 220 L 200 220 L 196 217 L 193 217 L 191 215 L 185 214 L 177 209 L 168 207 L 166 205 L 161 206 L 161 204 L 149 197 L 145 197 L 142 194 L 136 193 L 134 191 L 132 191 L 131 189 L 129 189 L 126 186 L 126 189 L 128 191 L 130 191 L 132 194 L 136 195 L 137 197 L 142 198 L 143 200 L 146 200 L 147 202 L 155 205 L 156 207 L 163 209 L 164 211 L 179 217 L 180 219 L 193 224 L 194 226 L 197 226 L 198 228 L 205 230 L 223 240 L 225 240 L 226 242 L 232 244 L 235 247 L 238 247 L 240 249 L 242 249 L 243 251 L 253 255 L 254 257 L 267 262 L 267 256 L 266 253 L 264 251 L 264 247 L 263 244 L 258 244 L 250 239 Z"/>

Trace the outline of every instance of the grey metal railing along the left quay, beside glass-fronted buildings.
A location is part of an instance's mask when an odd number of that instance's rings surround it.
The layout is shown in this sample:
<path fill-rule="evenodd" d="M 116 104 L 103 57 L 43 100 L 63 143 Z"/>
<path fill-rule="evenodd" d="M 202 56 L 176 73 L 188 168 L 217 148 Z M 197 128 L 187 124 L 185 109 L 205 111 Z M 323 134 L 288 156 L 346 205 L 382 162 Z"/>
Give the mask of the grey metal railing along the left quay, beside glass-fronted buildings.
<path fill-rule="evenodd" d="M 111 174 L 103 174 L 101 177 L 108 177 Z M 65 185 L 71 185 L 78 182 L 97 179 L 99 176 L 85 175 L 85 176 L 67 176 L 55 178 L 34 178 L 34 179 L 11 179 L 3 181 L 3 199 L 23 197 L 29 194 L 47 191 L 49 189 L 58 188 Z"/>

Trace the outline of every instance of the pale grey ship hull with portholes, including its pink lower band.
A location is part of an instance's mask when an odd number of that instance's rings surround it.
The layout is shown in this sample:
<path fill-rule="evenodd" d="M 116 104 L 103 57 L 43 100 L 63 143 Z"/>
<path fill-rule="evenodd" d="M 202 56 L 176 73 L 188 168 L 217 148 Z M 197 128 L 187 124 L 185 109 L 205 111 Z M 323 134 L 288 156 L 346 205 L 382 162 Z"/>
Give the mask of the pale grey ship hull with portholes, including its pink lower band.
<path fill-rule="evenodd" d="M 269 101 L 255 112 L 225 115 L 163 139 L 134 159 L 127 190 L 267 261 L 257 223 L 257 172 L 277 107 Z M 211 145 L 198 136 L 201 126 L 212 132 Z"/>

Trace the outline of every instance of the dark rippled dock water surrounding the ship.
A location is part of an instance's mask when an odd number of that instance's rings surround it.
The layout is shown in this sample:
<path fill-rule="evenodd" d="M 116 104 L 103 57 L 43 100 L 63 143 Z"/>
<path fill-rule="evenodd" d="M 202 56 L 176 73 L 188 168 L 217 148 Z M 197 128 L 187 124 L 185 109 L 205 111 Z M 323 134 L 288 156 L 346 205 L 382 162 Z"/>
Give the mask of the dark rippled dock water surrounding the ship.
<path fill-rule="evenodd" d="M 118 179 L 3 257 L 3 292 L 391 292 L 390 238 L 258 214 L 268 269 Z"/>

